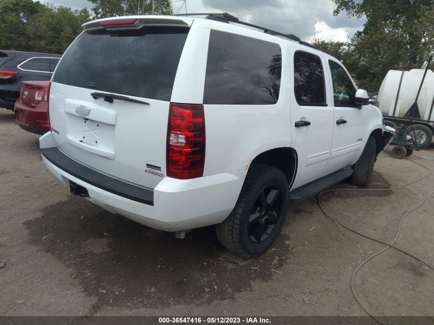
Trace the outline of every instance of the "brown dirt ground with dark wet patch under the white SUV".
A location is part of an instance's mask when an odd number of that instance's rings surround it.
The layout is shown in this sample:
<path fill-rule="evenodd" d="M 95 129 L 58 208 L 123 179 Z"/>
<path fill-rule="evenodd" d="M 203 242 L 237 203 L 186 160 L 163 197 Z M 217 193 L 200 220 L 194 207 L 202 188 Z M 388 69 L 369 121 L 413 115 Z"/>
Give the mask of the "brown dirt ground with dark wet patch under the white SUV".
<path fill-rule="evenodd" d="M 410 160 L 434 172 L 434 146 Z M 384 152 L 371 188 L 427 170 Z M 366 315 L 354 268 L 384 245 L 332 222 L 316 198 L 292 205 L 273 248 L 243 260 L 213 227 L 175 239 L 73 197 L 45 168 L 38 136 L 0 109 L 0 316 Z M 334 188 L 357 188 L 340 183 Z M 327 209 L 391 241 L 400 218 L 434 190 L 434 173 L 390 192 L 330 192 Z M 396 243 L 434 265 L 434 197 L 404 221 Z M 365 264 L 355 291 L 376 315 L 434 315 L 434 272 L 389 249 Z"/>

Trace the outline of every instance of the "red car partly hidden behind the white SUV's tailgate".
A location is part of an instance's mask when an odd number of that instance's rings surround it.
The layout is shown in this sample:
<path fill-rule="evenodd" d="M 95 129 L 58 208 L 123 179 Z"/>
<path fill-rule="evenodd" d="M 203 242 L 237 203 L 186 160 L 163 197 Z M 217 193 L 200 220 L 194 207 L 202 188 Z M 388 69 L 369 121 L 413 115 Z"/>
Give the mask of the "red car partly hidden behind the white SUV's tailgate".
<path fill-rule="evenodd" d="M 50 130 L 47 118 L 49 81 L 25 81 L 15 102 L 15 121 L 26 131 L 43 135 Z"/>

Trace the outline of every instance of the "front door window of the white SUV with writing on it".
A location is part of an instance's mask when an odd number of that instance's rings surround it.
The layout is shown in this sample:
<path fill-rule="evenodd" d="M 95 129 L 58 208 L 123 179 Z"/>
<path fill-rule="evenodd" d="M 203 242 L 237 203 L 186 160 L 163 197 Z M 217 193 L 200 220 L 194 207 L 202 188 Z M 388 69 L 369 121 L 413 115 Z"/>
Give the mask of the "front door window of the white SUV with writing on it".
<path fill-rule="evenodd" d="M 354 105 L 355 88 L 345 69 L 338 63 L 329 60 L 333 82 L 333 100 L 335 106 Z"/>

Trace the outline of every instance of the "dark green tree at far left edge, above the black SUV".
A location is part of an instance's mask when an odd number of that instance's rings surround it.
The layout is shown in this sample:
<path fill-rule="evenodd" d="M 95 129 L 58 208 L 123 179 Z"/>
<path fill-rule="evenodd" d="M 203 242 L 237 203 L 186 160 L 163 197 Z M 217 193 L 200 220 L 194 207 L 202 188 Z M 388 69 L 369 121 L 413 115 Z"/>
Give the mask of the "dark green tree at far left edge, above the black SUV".
<path fill-rule="evenodd" d="M 2 0 L 0 2 L 0 49 L 31 51 L 27 26 L 31 17 L 47 11 L 45 4 L 32 0 Z"/>

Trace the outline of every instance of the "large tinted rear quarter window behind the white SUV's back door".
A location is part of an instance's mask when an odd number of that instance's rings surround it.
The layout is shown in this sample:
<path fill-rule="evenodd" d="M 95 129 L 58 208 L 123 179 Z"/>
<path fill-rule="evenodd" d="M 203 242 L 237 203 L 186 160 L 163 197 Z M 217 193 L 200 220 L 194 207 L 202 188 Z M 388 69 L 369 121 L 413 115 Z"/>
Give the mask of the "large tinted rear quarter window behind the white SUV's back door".
<path fill-rule="evenodd" d="M 211 30 L 203 103 L 277 103 L 281 63 L 278 44 Z"/>

